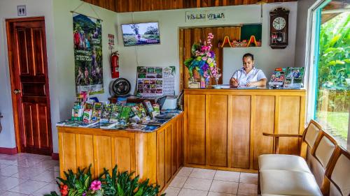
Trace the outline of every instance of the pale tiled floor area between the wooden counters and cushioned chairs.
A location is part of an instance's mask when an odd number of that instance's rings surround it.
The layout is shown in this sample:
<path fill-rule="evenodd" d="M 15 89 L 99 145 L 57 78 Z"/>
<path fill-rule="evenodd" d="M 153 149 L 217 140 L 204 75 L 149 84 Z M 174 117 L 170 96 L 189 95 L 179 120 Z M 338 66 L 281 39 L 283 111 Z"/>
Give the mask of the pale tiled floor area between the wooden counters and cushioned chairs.
<path fill-rule="evenodd" d="M 166 196 L 258 195 L 258 174 L 183 167 Z"/>

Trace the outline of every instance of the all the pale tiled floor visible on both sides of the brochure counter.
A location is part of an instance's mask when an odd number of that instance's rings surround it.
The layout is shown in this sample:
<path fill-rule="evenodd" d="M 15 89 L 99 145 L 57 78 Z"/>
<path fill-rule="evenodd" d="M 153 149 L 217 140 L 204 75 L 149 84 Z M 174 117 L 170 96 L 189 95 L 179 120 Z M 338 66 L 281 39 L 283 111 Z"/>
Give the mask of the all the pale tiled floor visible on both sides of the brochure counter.
<path fill-rule="evenodd" d="M 55 190 L 59 163 L 50 156 L 0 154 L 0 196 L 42 196 Z M 258 174 L 183 167 L 167 196 L 257 195 Z"/>

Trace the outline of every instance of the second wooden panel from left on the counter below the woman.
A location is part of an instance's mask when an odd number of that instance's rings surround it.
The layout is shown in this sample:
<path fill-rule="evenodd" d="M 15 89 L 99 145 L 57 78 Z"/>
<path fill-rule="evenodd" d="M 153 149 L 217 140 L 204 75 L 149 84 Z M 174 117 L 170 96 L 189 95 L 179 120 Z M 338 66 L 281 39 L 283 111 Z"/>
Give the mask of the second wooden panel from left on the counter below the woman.
<path fill-rule="evenodd" d="M 207 97 L 207 165 L 228 166 L 228 96 Z"/>

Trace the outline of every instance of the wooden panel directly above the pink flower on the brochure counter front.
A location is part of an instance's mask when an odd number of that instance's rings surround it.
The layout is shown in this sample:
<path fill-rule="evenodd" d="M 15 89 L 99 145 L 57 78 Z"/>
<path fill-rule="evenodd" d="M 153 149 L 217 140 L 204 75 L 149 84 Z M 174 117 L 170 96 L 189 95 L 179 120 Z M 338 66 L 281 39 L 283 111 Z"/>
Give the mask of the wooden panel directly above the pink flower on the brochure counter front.
<path fill-rule="evenodd" d="M 111 137 L 94 135 L 94 176 L 104 172 L 104 167 L 112 171 Z M 91 147 L 91 146 L 90 146 Z"/>

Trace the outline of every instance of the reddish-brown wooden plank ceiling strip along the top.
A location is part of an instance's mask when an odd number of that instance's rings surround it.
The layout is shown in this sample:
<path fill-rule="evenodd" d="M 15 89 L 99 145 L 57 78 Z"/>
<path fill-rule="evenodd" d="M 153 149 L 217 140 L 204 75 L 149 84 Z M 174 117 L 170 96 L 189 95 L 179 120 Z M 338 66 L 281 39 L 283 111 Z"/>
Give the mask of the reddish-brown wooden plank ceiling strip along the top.
<path fill-rule="evenodd" d="M 280 3 L 297 0 L 83 0 L 118 13 L 151 10 L 174 10 L 216 6 L 239 6 L 256 3 Z"/>

